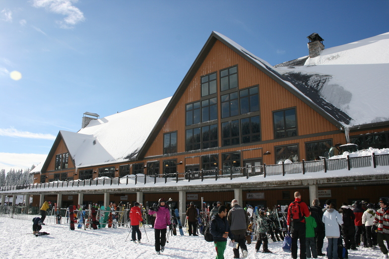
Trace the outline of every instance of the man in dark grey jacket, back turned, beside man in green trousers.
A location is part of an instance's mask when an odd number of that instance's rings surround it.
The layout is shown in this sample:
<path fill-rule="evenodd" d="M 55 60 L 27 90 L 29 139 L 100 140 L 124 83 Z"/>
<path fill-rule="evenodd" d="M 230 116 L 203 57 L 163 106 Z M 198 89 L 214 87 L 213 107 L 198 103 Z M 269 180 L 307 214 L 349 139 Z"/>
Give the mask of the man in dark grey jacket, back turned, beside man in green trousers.
<path fill-rule="evenodd" d="M 232 249 L 234 258 L 240 258 L 239 248 L 242 249 L 242 258 L 247 258 L 246 231 L 250 224 L 249 216 L 246 213 L 246 210 L 243 207 L 240 207 L 238 201 L 235 199 L 231 202 L 231 209 L 228 211 L 227 221 L 230 224 L 235 242 L 238 243 L 238 247 Z"/>

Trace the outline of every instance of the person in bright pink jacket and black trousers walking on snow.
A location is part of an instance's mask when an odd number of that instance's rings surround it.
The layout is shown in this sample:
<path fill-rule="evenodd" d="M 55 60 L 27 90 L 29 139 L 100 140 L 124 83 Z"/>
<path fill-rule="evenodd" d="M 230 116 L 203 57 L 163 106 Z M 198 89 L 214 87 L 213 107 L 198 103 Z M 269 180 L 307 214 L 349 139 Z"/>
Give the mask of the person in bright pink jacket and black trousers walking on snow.
<path fill-rule="evenodd" d="M 156 214 L 154 222 L 154 236 L 155 236 L 155 251 L 157 255 L 165 250 L 166 244 L 166 228 L 172 227 L 170 223 L 169 207 L 165 205 L 165 199 L 161 198 L 158 201 L 158 206 L 151 207 L 148 211 L 150 215 Z"/>

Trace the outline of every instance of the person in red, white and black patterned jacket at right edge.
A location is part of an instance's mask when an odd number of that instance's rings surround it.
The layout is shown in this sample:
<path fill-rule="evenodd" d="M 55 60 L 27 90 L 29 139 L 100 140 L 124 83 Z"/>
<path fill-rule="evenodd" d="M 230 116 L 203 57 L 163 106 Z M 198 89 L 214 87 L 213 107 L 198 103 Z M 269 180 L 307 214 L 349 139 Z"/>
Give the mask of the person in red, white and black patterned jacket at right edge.
<path fill-rule="evenodd" d="M 384 244 L 384 240 L 387 241 L 389 247 L 389 209 L 388 199 L 380 199 L 380 209 L 377 210 L 376 216 L 374 217 L 372 231 L 377 232 L 377 242 L 384 254 L 384 258 L 388 258 L 388 249 Z"/>

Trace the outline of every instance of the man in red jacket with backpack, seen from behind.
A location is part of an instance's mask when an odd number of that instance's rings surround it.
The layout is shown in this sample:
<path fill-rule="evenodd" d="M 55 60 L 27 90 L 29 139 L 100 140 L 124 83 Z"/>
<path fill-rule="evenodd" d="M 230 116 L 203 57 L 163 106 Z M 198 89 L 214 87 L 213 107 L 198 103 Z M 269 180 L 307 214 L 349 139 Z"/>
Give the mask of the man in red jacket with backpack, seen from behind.
<path fill-rule="evenodd" d="M 305 217 L 309 217 L 308 206 L 301 201 L 301 194 L 294 193 L 294 202 L 288 208 L 288 228 L 292 237 L 292 258 L 297 259 L 297 239 L 300 239 L 300 259 L 307 259 L 305 244 Z"/>

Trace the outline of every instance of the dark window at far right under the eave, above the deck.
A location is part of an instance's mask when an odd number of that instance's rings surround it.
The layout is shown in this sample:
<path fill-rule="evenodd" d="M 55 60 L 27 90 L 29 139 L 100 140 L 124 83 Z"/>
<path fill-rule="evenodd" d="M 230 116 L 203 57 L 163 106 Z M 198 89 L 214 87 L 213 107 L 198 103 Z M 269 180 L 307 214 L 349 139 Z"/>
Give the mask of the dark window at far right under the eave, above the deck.
<path fill-rule="evenodd" d="M 357 144 L 359 150 L 369 149 L 370 147 L 375 149 L 389 148 L 389 132 L 350 136 L 350 143 Z"/>

